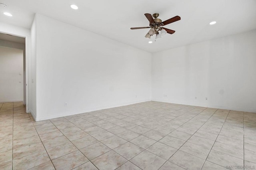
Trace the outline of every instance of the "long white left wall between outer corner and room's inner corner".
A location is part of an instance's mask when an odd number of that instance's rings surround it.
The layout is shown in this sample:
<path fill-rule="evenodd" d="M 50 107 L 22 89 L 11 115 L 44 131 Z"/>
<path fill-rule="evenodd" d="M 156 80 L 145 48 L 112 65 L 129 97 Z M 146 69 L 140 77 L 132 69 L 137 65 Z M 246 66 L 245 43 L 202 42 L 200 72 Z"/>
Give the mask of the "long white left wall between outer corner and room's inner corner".
<path fill-rule="evenodd" d="M 151 53 L 36 14 L 37 121 L 150 101 L 150 94 Z"/>

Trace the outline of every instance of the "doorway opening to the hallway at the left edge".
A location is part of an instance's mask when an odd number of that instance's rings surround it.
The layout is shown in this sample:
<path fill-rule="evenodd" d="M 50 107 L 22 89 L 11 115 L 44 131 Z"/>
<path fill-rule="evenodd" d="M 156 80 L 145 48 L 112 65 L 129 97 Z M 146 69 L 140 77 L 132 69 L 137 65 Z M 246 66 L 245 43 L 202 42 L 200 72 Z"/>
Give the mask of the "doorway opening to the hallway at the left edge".
<path fill-rule="evenodd" d="M 0 33 L 0 103 L 22 102 L 28 113 L 28 69 L 25 37 Z"/>

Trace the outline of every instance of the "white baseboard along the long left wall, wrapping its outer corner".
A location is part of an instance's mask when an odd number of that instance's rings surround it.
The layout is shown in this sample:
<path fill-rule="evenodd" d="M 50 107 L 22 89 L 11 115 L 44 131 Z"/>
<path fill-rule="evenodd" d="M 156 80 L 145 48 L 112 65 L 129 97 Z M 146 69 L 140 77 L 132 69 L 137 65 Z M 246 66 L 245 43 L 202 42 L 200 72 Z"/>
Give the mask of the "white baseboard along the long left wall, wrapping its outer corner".
<path fill-rule="evenodd" d="M 76 115 L 76 114 L 80 114 L 80 113 L 98 111 L 98 110 L 109 109 L 109 108 L 113 108 L 113 107 L 132 105 L 132 104 L 142 103 L 142 102 L 146 102 L 146 101 L 151 101 L 151 99 L 145 99 L 145 100 L 133 101 L 133 102 L 127 102 L 127 103 L 119 103 L 119 104 L 107 105 L 107 106 L 102 106 L 102 107 L 94 107 L 94 108 L 89 108 L 89 109 L 84 109 L 84 110 L 78 110 L 78 111 L 72 111 L 72 112 L 66 112 L 66 113 L 64 112 L 64 113 L 59 113 L 57 115 L 50 115 L 50 116 L 43 116 L 43 117 L 35 117 L 32 110 L 31 110 L 31 114 L 34 117 L 35 121 L 44 121 L 47 119 L 54 119 L 54 118 L 58 118 L 58 117 Z"/>

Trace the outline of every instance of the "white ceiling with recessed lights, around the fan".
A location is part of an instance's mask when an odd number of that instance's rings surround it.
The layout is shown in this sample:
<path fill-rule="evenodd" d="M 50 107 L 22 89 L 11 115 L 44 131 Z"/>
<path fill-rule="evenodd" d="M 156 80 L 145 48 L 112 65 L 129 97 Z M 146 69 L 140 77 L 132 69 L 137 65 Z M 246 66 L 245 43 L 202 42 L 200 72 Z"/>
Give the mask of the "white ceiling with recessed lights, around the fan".
<path fill-rule="evenodd" d="M 0 0 L 0 22 L 30 28 L 34 13 L 39 13 L 113 40 L 157 52 L 190 43 L 256 29 L 256 0 Z M 70 8 L 76 4 L 78 10 Z M 13 16 L 4 16 L 10 12 Z M 144 38 L 149 29 L 144 13 L 159 13 L 162 21 L 176 15 L 180 21 L 165 26 L 172 35 L 149 44 Z M 217 21 L 215 25 L 209 25 Z M 152 40 L 152 39 L 151 39 Z M 154 40 L 154 39 L 153 39 Z"/>

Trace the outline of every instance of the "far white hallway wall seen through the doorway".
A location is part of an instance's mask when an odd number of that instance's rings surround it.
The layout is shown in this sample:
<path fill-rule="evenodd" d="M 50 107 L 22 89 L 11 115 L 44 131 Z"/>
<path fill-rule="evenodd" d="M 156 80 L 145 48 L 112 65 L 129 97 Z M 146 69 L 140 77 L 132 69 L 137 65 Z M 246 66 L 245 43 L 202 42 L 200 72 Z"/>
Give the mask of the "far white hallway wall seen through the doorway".
<path fill-rule="evenodd" d="M 0 46 L 0 102 L 15 101 L 23 101 L 23 50 Z"/>

